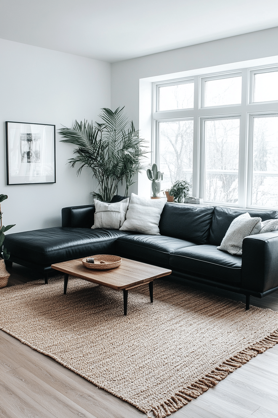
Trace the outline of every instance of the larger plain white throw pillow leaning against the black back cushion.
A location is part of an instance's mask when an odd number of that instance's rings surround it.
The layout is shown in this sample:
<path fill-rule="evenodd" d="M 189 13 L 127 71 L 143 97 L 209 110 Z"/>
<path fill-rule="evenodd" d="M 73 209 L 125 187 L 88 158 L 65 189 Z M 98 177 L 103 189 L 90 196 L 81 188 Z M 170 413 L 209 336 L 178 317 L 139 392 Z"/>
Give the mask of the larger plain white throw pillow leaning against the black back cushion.
<path fill-rule="evenodd" d="M 166 199 L 145 199 L 132 193 L 126 220 L 120 231 L 136 231 L 148 235 L 160 235 L 158 223 Z"/>

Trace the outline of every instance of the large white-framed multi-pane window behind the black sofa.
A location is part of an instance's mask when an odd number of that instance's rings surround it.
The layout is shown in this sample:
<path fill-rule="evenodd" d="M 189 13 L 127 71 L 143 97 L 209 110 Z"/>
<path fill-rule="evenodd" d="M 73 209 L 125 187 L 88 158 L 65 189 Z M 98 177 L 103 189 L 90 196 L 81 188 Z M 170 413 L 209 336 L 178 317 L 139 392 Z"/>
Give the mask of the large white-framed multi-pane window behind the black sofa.
<path fill-rule="evenodd" d="M 278 66 L 153 84 L 163 189 L 240 207 L 278 206 Z"/>

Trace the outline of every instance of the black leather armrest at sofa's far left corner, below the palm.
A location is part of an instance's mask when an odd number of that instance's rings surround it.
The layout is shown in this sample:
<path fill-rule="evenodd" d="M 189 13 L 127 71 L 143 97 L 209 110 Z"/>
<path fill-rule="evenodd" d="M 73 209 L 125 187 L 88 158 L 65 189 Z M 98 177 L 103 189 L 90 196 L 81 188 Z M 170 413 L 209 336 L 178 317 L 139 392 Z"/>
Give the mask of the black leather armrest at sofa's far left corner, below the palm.
<path fill-rule="evenodd" d="M 90 228 L 94 224 L 95 205 L 68 206 L 62 209 L 62 227 Z"/>

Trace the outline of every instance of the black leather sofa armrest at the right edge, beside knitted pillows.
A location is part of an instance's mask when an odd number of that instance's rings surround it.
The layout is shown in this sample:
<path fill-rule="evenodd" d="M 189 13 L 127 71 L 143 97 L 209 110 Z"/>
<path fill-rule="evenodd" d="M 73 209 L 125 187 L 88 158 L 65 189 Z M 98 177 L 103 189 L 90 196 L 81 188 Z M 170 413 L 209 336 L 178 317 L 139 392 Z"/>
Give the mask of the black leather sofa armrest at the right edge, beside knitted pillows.
<path fill-rule="evenodd" d="M 241 285 L 260 293 L 278 286 L 278 231 L 244 238 Z"/>

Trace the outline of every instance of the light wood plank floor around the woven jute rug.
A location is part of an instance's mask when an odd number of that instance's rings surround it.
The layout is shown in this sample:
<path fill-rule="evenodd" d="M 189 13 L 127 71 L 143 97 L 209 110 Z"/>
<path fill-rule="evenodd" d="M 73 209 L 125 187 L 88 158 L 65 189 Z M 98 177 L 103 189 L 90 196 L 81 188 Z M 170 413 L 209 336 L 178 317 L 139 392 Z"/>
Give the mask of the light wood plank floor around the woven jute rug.
<path fill-rule="evenodd" d="M 8 285 L 37 277 L 13 265 Z M 51 280 L 51 278 L 49 279 Z M 208 288 L 234 300 L 244 296 Z M 278 292 L 251 304 L 278 311 Z M 0 331 L 0 417 L 5 418 L 139 418 L 128 403 L 75 375 Z M 278 345 L 259 354 L 214 388 L 175 412 L 173 418 L 278 418 Z"/>

